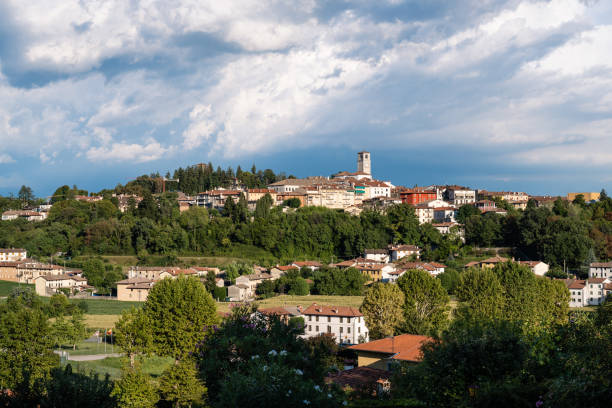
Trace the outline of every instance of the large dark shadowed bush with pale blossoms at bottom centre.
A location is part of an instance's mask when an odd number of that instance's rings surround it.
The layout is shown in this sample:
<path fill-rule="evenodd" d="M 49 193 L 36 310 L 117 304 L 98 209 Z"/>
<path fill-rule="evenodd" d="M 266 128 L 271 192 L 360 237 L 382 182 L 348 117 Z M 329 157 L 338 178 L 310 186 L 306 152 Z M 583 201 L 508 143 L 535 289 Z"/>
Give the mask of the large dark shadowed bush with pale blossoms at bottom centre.
<path fill-rule="evenodd" d="M 307 345 L 303 327 L 237 306 L 199 345 L 196 360 L 213 407 L 337 406 L 326 390 L 326 347 Z M 319 391 L 320 390 L 320 391 Z M 331 398 L 328 397 L 331 394 Z"/>

